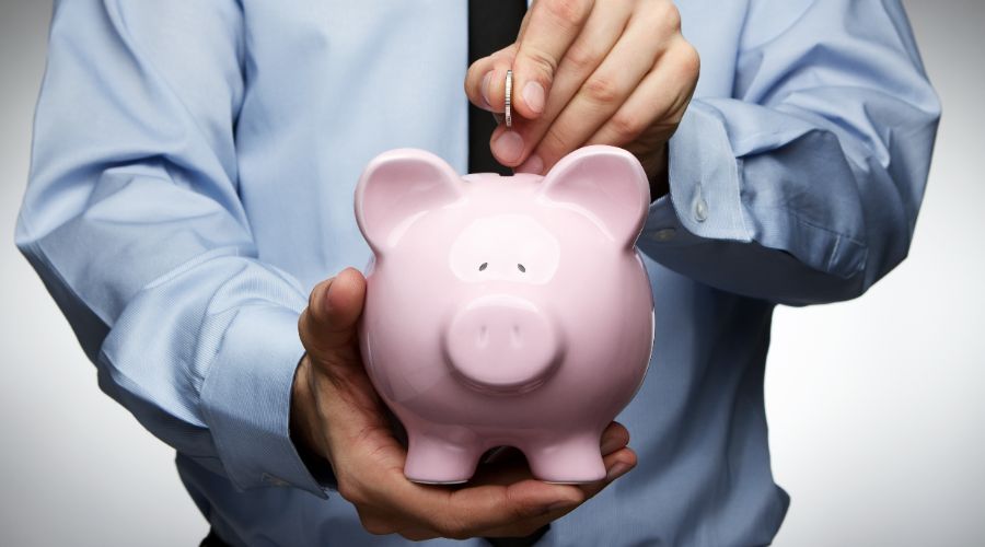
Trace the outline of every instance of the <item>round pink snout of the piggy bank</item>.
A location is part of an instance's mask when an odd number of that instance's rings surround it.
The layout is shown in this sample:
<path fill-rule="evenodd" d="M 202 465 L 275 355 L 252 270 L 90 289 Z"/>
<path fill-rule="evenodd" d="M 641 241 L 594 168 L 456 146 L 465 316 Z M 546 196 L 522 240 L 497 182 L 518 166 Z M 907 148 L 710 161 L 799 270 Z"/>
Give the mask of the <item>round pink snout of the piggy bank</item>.
<path fill-rule="evenodd" d="M 533 303 L 511 296 L 465 306 L 452 318 L 444 346 L 460 380 L 485 392 L 534 389 L 560 361 L 549 316 Z"/>

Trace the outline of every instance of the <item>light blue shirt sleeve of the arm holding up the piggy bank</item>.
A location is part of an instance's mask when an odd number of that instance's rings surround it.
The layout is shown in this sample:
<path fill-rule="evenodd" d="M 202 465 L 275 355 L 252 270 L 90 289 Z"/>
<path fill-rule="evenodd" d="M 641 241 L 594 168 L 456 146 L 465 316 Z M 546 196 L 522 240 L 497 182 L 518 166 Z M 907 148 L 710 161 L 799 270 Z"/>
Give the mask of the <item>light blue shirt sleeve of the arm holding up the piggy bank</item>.
<path fill-rule="evenodd" d="M 243 44 L 236 2 L 56 2 L 16 243 L 154 435 L 325 497 L 289 437 L 306 296 L 237 196 Z"/>

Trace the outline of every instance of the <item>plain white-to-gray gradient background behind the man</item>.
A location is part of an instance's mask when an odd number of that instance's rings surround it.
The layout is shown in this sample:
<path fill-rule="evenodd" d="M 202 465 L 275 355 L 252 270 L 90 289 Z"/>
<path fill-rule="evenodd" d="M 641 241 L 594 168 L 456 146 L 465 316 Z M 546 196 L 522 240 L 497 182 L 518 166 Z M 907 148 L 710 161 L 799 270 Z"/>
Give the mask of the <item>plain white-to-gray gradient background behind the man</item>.
<path fill-rule="evenodd" d="M 868 294 L 777 310 L 779 546 L 985 545 L 985 1 L 905 3 L 945 105 L 930 186 L 911 257 Z M 171 449 L 100 392 L 13 246 L 49 16 L 0 0 L 0 545 L 197 545 Z"/>

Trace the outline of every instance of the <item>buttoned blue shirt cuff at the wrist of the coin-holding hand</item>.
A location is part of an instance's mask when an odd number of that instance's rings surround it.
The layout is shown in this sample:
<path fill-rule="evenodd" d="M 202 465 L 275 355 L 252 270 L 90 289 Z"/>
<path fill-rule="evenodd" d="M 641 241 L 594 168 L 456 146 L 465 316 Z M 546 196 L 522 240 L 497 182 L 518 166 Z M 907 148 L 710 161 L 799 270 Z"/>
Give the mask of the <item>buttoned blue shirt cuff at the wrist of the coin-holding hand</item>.
<path fill-rule="evenodd" d="M 668 143 L 670 194 L 650 205 L 644 247 L 700 240 L 750 242 L 739 189 L 739 161 L 721 119 L 692 102 Z"/>

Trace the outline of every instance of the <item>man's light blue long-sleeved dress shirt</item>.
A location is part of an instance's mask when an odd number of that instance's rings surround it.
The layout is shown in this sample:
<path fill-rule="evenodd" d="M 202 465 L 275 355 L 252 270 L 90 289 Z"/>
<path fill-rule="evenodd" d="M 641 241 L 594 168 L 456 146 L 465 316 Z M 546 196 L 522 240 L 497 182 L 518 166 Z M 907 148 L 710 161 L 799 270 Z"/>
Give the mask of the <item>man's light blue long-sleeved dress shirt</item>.
<path fill-rule="evenodd" d="M 657 335 L 618 418 L 639 466 L 546 546 L 768 544 L 788 504 L 763 405 L 773 307 L 865 292 L 924 194 L 940 110 L 899 0 L 677 3 L 703 69 L 639 241 Z M 232 544 L 404 544 L 366 533 L 291 443 L 297 319 L 367 264 L 371 158 L 464 170 L 465 7 L 56 1 L 16 242 Z"/>

